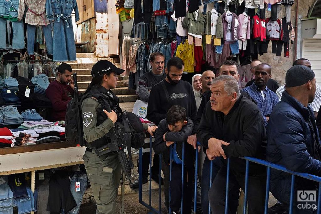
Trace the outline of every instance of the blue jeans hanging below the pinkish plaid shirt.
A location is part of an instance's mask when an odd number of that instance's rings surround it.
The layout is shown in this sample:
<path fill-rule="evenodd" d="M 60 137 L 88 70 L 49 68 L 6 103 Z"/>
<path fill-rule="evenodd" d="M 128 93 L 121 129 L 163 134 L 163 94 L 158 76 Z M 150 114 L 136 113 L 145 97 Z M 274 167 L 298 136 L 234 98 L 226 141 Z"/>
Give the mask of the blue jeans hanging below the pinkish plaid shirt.
<path fill-rule="evenodd" d="M 34 54 L 35 51 L 36 28 L 36 25 L 27 24 L 28 54 Z M 47 26 L 42 26 L 42 31 L 46 39 L 47 52 L 52 55 L 52 25 L 48 24 Z"/>

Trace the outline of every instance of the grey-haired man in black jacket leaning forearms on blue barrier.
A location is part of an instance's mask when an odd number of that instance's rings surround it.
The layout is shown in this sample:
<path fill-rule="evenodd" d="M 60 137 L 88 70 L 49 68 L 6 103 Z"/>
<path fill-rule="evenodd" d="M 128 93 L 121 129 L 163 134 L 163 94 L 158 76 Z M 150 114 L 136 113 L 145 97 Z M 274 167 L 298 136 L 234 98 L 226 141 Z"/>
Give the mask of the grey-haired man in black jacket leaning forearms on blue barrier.
<path fill-rule="evenodd" d="M 210 102 L 206 104 L 197 131 L 197 139 L 207 148 L 210 160 L 230 158 L 228 213 L 236 213 L 239 189 L 245 187 L 246 161 L 238 157 L 264 158 L 262 142 L 265 135 L 263 117 L 256 104 L 240 95 L 238 82 L 228 75 L 212 81 Z M 265 168 L 249 164 L 248 213 L 264 212 Z M 218 171 L 208 193 L 213 214 L 225 210 L 227 161 Z"/>

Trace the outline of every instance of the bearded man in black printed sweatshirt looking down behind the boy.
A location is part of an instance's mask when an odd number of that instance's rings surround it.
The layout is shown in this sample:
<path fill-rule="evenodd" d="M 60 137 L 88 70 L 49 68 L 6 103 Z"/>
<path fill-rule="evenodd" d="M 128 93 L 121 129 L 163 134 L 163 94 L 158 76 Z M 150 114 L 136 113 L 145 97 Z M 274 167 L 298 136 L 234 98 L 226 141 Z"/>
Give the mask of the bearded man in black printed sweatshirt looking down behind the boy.
<path fill-rule="evenodd" d="M 149 95 L 147 119 L 156 125 L 166 118 L 166 113 L 173 105 L 186 109 L 186 117 L 193 122 L 196 117 L 196 102 L 193 87 L 187 81 L 182 81 L 184 62 L 179 57 L 172 57 L 165 68 L 166 78 L 155 85 Z M 185 154 L 195 154 L 193 146 L 185 146 Z M 190 157 L 194 160 L 194 157 Z M 165 205 L 169 207 L 169 167 L 162 161 L 164 173 Z"/>

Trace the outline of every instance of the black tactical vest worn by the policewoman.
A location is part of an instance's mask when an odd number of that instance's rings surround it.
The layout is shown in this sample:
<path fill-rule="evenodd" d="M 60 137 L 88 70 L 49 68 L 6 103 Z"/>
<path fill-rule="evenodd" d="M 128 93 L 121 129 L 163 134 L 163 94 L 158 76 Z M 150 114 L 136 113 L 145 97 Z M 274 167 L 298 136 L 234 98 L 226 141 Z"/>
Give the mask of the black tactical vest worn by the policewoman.
<path fill-rule="evenodd" d="M 107 115 L 104 113 L 103 109 L 107 109 L 107 104 L 109 103 L 110 109 L 114 110 L 117 114 L 117 118 L 120 118 L 120 115 L 122 114 L 122 110 L 119 107 L 119 99 L 116 97 L 116 95 L 111 92 L 111 90 L 108 90 L 108 95 L 104 94 L 100 88 L 98 89 L 92 89 L 85 95 L 85 98 L 91 98 L 94 97 L 98 100 L 100 103 L 100 107 L 96 109 L 97 111 L 97 123 L 96 126 L 99 126 L 104 121 L 108 119 Z M 118 120 L 118 119 L 117 119 Z M 107 143 L 108 134 L 104 135 L 103 137 L 92 141 L 90 143 L 85 141 L 85 146 L 90 149 L 98 148 L 101 146 L 106 145 Z"/>

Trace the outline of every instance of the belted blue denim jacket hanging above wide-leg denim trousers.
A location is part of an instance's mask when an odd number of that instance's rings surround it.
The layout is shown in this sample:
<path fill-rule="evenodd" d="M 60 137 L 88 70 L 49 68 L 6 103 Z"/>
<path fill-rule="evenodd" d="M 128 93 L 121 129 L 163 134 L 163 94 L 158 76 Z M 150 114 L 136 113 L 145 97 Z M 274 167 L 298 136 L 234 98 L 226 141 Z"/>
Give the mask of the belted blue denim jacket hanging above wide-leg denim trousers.
<path fill-rule="evenodd" d="M 19 2 L 19 1 L 18 1 Z M 76 0 L 47 0 L 46 11 L 49 21 L 54 20 L 59 22 L 60 19 L 71 17 L 75 11 L 75 20 L 79 21 L 79 12 Z"/>

